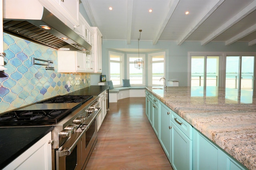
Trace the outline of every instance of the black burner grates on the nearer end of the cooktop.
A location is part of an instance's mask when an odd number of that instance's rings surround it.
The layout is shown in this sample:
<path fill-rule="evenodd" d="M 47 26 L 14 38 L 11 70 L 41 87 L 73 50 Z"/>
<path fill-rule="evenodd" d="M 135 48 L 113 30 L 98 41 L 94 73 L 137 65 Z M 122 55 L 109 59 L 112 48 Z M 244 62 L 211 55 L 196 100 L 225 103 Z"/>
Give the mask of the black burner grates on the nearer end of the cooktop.
<path fill-rule="evenodd" d="M 0 125 L 53 124 L 71 111 L 72 109 L 16 110 L 0 115 Z"/>

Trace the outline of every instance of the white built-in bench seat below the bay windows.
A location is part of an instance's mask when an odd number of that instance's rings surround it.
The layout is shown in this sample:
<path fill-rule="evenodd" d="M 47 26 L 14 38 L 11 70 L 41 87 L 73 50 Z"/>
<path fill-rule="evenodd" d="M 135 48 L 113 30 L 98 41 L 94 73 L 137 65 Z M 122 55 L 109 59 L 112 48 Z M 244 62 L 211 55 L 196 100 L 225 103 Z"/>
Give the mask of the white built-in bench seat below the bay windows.
<path fill-rule="evenodd" d="M 145 97 L 145 86 L 116 87 L 109 90 L 109 102 L 129 97 Z"/>

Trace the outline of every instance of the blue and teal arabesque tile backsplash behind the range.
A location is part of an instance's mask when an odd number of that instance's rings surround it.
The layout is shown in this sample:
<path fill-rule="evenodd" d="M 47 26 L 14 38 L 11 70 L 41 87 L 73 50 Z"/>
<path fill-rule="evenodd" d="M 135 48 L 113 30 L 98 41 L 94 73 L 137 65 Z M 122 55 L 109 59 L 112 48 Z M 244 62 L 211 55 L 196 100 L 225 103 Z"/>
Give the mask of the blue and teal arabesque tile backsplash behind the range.
<path fill-rule="evenodd" d="M 0 71 L 0 113 L 90 86 L 89 73 L 58 72 L 54 49 L 4 33 L 4 52 L 7 70 Z M 32 57 L 53 61 L 55 70 L 32 65 Z"/>

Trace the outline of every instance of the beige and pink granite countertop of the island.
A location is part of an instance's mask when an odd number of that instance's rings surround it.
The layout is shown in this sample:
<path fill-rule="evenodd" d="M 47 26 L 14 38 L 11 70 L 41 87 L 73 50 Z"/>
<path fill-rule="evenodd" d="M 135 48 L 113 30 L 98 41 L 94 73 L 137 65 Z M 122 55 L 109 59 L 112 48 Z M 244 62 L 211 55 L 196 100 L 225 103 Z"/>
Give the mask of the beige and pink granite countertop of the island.
<path fill-rule="evenodd" d="M 250 170 L 256 170 L 256 97 L 252 90 L 146 86 L 156 98 Z"/>

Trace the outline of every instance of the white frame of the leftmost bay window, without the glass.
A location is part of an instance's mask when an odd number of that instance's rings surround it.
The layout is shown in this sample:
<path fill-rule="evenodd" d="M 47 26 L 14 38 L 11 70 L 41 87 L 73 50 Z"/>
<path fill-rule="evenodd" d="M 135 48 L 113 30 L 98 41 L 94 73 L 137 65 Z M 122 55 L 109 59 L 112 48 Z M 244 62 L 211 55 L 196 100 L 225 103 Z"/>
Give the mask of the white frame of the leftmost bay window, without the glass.
<path fill-rule="evenodd" d="M 120 61 L 111 61 L 113 63 L 121 63 L 121 71 L 120 71 L 120 84 L 114 85 L 114 87 L 122 86 L 122 79 L 124 79 L 124 53 L 118 53 L 115 51 L 108 51 L 108 77 L 110 79 L 110 55 L 119 55 Z"/>

